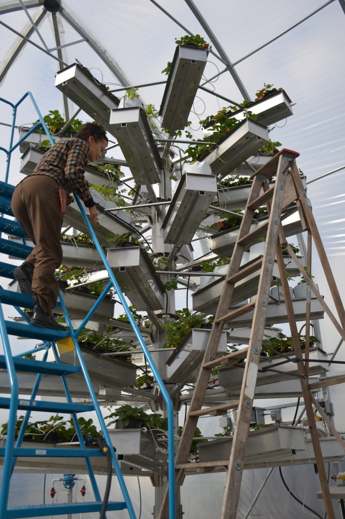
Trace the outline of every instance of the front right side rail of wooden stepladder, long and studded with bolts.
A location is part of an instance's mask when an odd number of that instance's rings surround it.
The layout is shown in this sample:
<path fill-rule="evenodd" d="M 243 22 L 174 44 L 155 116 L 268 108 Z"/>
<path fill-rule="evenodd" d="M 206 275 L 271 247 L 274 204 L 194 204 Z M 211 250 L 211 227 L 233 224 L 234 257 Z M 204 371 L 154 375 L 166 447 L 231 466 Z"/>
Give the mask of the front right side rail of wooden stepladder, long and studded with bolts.
<path fill-rule="evenodd" d="M 287 159 L 283 155 L 279 159 L 276 189 L 270 206 L 271 210 L 266 236 L 263 267 L 258 283 L 252 331 L 249 339 L 249 356 L 247 357 L 243 374 L 236 428 L 225 483 L 221 519 L 236 519 L 237 517 L 243 462 L 252 413 L 258 364 L 260 361 L 262 338 L 265 329 L 270 281 L 274 267 L 279 224 L 281 222 L 284 188 L 287 177 L 286 160 Z M 289 163 L 290 162 L 291 161 L 289 160 Z"/>

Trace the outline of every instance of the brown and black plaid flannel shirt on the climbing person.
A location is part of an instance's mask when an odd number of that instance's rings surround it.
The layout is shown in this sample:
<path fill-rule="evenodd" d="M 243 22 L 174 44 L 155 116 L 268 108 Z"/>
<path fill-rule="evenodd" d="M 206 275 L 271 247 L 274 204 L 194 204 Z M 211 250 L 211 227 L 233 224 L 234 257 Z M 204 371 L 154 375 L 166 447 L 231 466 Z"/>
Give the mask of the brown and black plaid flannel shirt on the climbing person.
<path fill-rule="evenodd" d="M 75 190 L 86 207 L 95 205 L 84 172 L 90 146 L 82 139 L 62 139 L 47 150 L 31 175 L 48 175 L 70 195 Z M 71 197 L 68 202 L 70 203 Z M 67 203 L 68 203 L 67 202 Z"/>

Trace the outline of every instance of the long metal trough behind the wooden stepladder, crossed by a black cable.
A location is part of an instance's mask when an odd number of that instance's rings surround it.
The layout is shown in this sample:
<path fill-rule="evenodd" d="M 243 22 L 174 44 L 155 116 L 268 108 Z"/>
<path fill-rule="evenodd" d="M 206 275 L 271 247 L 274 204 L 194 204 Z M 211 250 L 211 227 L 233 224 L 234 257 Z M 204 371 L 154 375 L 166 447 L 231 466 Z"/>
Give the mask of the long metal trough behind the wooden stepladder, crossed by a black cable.
<path fill-rule="evenodd" d="M 295 358 L 295 354 L 289 354 L 290 358 Z M 314 361 L 319 360 L 327 360 L 326 353 L 321 349 L 316 347 L 310 348 L 309 350 L 309 358 Z M 263 370 L 267 367 L 274 368 L 275 364 L 280 363 L 284 360 L 279 355 L 272 357 L 261 357 L 259 363 L 259 370 Z M 309 374 L 310 376 L 325 374 L 327 364 L 325 362 L 310 362 L 309 366 Z M 219 377 L 219 385 L 226 388 L 231 389 L 232 391 L 239 390 L 242 385 L 243 373 L 244 373 L 245 363 L 240 362 L 239 364 L 235 364 L 233 366 L 223 366 L 218 369 L 218 377 Z M 258 371 L 256 386 L 262 386 L 264 384 L 274 384 L 276 382 L 282 382 L 284 380 L 294 379 L 296 385 L 299 386 L 299 381 L 297 377 L 294 375 L 298 374 L 297 364 L 294 362 L 286 362 L 285 364 L 281 364 L 277 367 L 280 373 L 275 372 L 263 372 Z"/>

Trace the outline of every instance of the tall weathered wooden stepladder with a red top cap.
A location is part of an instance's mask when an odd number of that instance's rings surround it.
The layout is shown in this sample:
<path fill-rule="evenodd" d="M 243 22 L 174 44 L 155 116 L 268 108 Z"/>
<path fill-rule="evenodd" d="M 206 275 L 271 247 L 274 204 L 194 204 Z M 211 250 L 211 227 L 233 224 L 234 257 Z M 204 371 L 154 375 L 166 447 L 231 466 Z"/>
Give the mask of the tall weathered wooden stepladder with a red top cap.
<path fill-rule="evenodd" d="M 185 421 L 176 454 L 176 483 L 181 485 L 184 476 L 184 469 L 186 469 L 188 466 L 190 467 L 186 461 L 188 459 L 190 446 L 193 440 L 194 431 L 197 426 L 199 416 L 222 415 L 227 411 L 227 409 L 238 409 L 231 456 L 228 461 L 227 479 L 220 519 L 236 519 L 237 517 L 243 463 L 246 454 L 254 391 L 258 372 L 258 364 L 260 361 L 262 340 L 264 336 L 264 327 L 266 322 L 267 306 L 269 301 L 269 292 L 275 257 L 277 257 L 280 271 L 280 278 L 284 292 L 287 317 L 290 323 L 295 355 L 296 358 L 303 359 L 289 290 L 289 283 L 287 281 L 285 264 L 280 247 L 281 244 L 284 244 L 287 250 L 289 250 L 292 260 L 295 262 L 301 274 L 304 276 L 307 284 L 310 286 L 310 290 L 312 290 L 315 296 L 319 299 L 327 315 L 335 324 L 341 337 L 345 339 L 345 311 L 341 303 L 340 295 L 338 293 L 332 271 L 329 267 L 327 256 L 324 251 L 317 226 L 315 225 L 310 203 L 306 197 L 305 187 L 300 179 L 300 175 L 296 167 L 295 160 L 298 156 L 299 154 L 296 152 L 293 152 L 289 149 L 283 149 L 278 155 L 273 157 L 270 161 L 267 162 L 265 166 L 263 166 L 254 174 L 251 193 L 249 195 L 247 206 L 243 214 L 242 223 L 231 258 L 231 264 L 229 265 L 218 309 L 215 313 L 213 327 L 210 332 L 210 337 L 205 350 L 204 361 L 195 383 L 195 389 L 191 400 L 189 413 Z M 271 179 L 271 177 L 275 177 L 275 184 L 274 186 L 269 187 L 268 180 Z M 263 205 L 267 205 L 269 214 L 268 222 L 262 224 L 260 227 L 256 227 L 251 231 L 254 211 Z M 307 270 L 305 270 L 303 265 L 301 265 L 301 263 L 298 261 L 290 245 L 287 243 L 282 226 L 282 221 L 286 215 L 290 215 L 297 210 L 299 211 L 299 216 L 303 224 L 303 228 L 308 231 Z M 253 245 L 257 241 L 258 237 L 263 236 L 263 229 L 265 230 L 264 234 L 266 234 L 265 252 L 263 256 L 254 262 L 240 267 L 243 252 L 245 252 L 251 245 Z M 310 261 L 311 238 L 314 239 L 321 263 L 324 267 L 329 288 L 333 295 L 334 303 L 338 311 L 340 324 L 337 322 L 332 312 L 330 312 L 328 306 L 324 303 L 322 296 L 312 283 Z M 231 309 L 235 284 L 250 274 L 253 274 L 255 271 L 261 271 L 258 281 L 257 295 L 256 298 L 254 298 L 255 300 Z M 231 323 L 237 318 L 253 310 L 254 313 L 248 348 L 217 358 L 217 349 L 224 324 Z M 305 359 L 308 359 L 309 356 L 309 316 L 310 302 L 308 303 L 307 301 Z M 229 401 L 223 404 L 215 405 L 213 407 L 203 407 L 211 369 L 220 366 L 221 364 L 223 365 L 226 363 L 234 363 L 237 359 L 240 358 L 246 358 L 246 363 L 239 400 Z M 308 424 L 310 426 L 311 440 L 315 459 L 317 461 L 327 517 L 331 519 L 334 518 L 335 515 L 332 501 L 329 495 L 329 487 L 322 459 L 319 436 L 315 425 L 313 406 L 318 408 L 318 411 L 326 421 L 326 424 L 328 427 L 330 427 L 332 432 L 334 432 L 334 435 L 341 443 L 344 450 L 345 442 L 334 430 L 333 425 L 329 422 L 321 407 L 318 406 L 317 402 L 310 393 L 312 386 L 309 387 L 308 383 L 308 362 L 300 361 L 297 363 L 297 366 L 300 375 L 301 390 L 306 407 Z M 340 380 L 339 377 L 339 382 L 341 381 L 343 380 Z M 211 466 L 215 467 L 217 465 L 220 465 L 220 463 L 207 462 L 198 464 L 200 469 L 202 469 L 203 466 L 205 470 L 210 469 Z M 225 463 L 222 462 L 222 465 L 224 466 Z M 162 503 L 159 519 L 168 519 L 166 496 Z"/>

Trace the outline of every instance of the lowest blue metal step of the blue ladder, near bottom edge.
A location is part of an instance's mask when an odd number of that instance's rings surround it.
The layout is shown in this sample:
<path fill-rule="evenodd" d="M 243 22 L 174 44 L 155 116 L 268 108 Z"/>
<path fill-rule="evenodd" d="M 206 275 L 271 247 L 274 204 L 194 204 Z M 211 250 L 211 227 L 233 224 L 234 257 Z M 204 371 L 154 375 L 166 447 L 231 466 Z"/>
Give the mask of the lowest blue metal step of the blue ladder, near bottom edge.
<path fill-rule="evenodd" d="M 103 501 L 89 501 L 83 503 L 39 504 L 32 507 L 9 508 L 3 519 L 24 519 L 25 517 L 40 517 L 45 515 L 67 515 L 87 512 L 100 512 Z M 112 501 L 107 504 L 107 511 L 124 510 L 126 503 Z"/>

